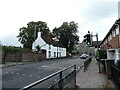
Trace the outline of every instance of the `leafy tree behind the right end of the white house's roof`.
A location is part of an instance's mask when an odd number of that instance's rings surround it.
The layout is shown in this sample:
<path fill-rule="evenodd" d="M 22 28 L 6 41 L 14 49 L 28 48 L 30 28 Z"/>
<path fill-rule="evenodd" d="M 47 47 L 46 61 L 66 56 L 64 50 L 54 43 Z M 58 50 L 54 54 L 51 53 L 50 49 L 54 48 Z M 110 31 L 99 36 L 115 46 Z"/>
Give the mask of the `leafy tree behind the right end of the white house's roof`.
<path fill-rule="evenodd" d="M 68 23 L 63 22 L 63 24 L 57 28 L 53 29 L 53 35 L 64 45 L 67 52 L 72 53 L 74 45 L 78 43 L 79 36 L 77 36 L 77 23 L 74 21 Z"/>

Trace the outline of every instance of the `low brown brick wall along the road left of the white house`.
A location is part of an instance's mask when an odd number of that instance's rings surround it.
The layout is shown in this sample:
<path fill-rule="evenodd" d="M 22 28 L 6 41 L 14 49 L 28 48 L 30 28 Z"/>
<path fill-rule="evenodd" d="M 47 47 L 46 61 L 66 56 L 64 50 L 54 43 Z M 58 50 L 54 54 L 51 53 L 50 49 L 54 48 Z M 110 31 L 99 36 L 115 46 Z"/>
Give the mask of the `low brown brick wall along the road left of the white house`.
<path fill-rule="evenodd" d="M 35 58 L 35 60 L 41 61 L 41 60 L 45 60 L 46 59 L 46 54 L 45 53 L 3 53 L 2 55 L 2 61 L 5 62 L 21 62 L 21 61 L 33 61 L 33 59 Z"/>

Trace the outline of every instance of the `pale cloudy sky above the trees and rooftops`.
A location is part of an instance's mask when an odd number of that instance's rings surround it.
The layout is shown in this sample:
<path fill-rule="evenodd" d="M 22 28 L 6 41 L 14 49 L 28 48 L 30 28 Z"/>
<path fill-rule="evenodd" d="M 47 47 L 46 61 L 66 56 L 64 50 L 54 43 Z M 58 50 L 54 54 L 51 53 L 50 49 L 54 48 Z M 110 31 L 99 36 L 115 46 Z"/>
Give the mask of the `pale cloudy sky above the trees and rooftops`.
<path fill-rule="evenodd" d="M 43 21 L 52 31 L 63 22 L 78 23 L 80 42 L 90 31 L 103 40 L 118 19 L 119 0 L 1 0 L 0 42 L 20 46 L 19 29 L 28 22 Z M 95 37 L 93 37 L 95 40 Z"/>

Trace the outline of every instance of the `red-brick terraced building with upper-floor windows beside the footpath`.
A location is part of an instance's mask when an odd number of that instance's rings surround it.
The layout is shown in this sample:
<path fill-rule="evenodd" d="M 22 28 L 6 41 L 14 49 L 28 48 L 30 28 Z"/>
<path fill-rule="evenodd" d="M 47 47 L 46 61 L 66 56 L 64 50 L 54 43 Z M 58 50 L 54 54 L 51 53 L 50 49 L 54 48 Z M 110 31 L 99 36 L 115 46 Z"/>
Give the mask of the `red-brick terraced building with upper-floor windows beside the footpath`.
<path fill-rule="evenodd" d="M 116 20 L 100 44 L 101 50 L 120 48 L 120 19 Z"/>

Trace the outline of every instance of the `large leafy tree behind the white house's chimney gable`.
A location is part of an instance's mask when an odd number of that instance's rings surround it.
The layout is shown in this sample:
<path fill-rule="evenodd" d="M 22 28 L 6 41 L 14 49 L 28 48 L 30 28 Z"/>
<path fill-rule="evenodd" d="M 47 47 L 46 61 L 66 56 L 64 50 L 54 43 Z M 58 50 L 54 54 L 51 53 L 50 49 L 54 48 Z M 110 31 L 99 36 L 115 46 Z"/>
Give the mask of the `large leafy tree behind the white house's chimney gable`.
<path fill-rule="evenodd" d="M 49 34 L 49 28 L 47 27 L 46 22 L 38 21 L 38 22 L 29 22 L 27 27 L 20 28 L 19 41 L 23 44 L 24 48 L 32 49 L 32 43 L 37 38 L 38 31 L 41 31 L 42 34 Z"/>

